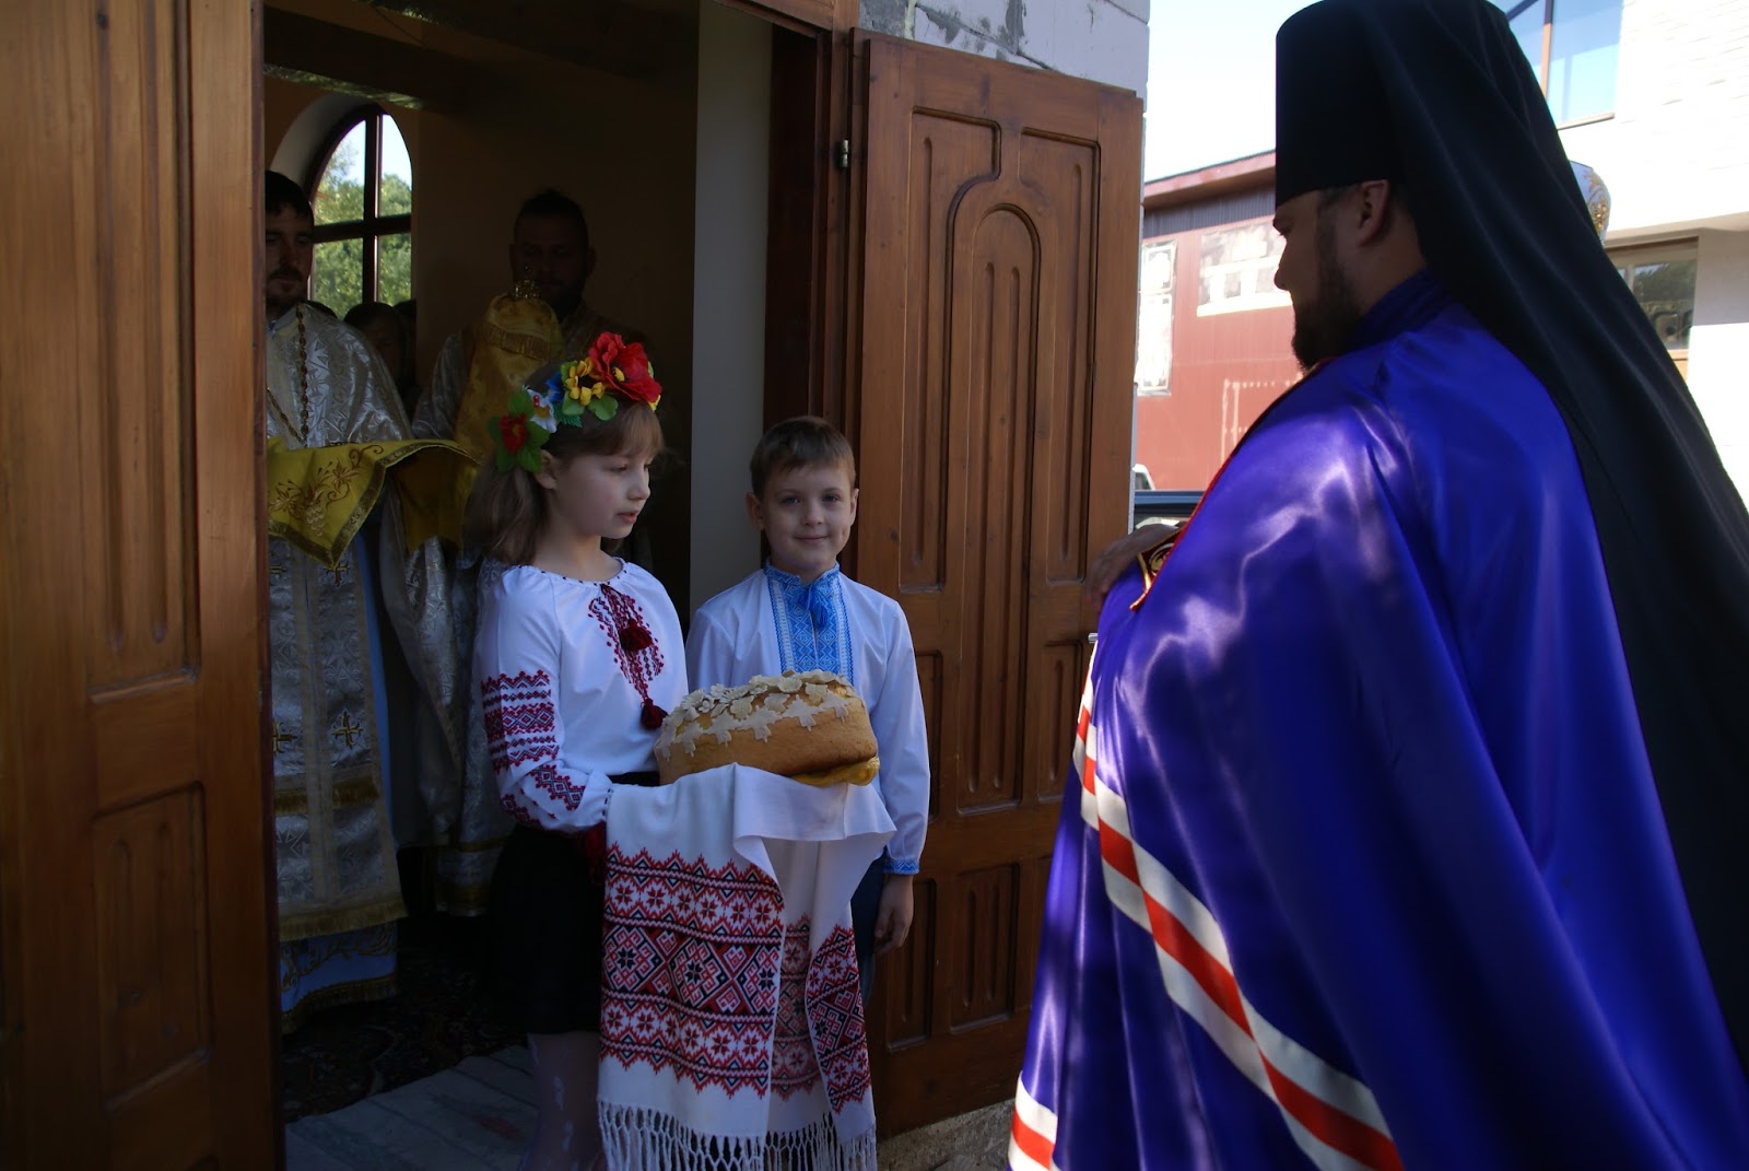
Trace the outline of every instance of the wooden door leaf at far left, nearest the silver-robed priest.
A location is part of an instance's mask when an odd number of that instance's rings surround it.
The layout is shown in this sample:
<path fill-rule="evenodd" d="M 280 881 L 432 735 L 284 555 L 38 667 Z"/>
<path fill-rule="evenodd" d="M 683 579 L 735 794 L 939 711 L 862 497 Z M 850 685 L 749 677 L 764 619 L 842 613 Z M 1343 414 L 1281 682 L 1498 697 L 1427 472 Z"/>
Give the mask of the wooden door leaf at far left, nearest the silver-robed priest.
<path fill-rule="evenodd" d="M 0 1164 L 271 1167 L 261 37 L 0 49 Z"/>

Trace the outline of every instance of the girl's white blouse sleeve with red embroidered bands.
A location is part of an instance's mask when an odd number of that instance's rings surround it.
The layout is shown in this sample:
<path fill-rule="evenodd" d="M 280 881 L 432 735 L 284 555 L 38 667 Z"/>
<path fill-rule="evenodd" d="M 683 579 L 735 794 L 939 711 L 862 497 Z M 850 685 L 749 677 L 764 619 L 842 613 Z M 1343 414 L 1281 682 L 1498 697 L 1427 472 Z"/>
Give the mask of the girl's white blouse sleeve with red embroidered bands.
<path fill-rule="evenodd" d="M 612 781 L 567 751 L 558 616 L 542 600 L 500 593 L 481 613 L 474 676 L 486 751 L 498 802 L 512 817 L 537 830 L 582 833 L 605 821 Z"/>

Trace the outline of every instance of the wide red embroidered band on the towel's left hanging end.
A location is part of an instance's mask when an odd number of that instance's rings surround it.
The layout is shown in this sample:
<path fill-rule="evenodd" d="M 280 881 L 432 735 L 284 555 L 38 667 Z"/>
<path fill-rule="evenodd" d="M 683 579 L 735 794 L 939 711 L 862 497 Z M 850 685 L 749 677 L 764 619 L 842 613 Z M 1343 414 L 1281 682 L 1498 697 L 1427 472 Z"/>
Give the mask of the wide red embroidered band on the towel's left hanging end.
<path fill-rule="evenodd" d="M 764 1097 L 782 896 L 757 866 L 609 847 L 602 1057 Z"/>

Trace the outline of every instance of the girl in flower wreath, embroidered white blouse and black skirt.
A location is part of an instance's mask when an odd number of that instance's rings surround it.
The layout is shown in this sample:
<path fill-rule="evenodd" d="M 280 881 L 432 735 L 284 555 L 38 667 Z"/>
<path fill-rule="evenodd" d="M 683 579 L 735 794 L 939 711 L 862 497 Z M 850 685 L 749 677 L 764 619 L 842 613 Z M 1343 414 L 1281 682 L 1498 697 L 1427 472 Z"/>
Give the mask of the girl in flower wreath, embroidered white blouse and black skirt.
<path fill-rule="evenodd" d="M 661 387 L 637 343 L 537 375 L 493 420 L 469 536 L 504 564 L 474 642 L 486 742 L 516 819 L 491 879 L 493 982 L 528 1033 L 539 1120 L 523 1171 L 600 1152 L 607 805 L 654 784 L 656 732 L 687 691 L 663 586 L 610 553 L 649 501 Z"/>

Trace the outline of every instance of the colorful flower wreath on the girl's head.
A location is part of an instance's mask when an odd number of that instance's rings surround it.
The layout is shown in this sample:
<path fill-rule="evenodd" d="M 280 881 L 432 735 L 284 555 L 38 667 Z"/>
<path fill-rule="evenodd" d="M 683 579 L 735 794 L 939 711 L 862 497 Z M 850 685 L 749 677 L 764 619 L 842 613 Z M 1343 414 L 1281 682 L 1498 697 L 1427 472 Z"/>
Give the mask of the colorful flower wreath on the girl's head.
<path fill-rule="evenodd" d="M 621 399 L 654 411 L 661 383 L 644 343 L 603 333 L 588 355 L 560 362 L 540 387 L 521 387 L 511 396 L 509 411 L 491 425 L 498 471 L 540 471 L 540 448 L 560 425 L 579 425 L 584 411 L 605 422 L 619 411 Z"/>

